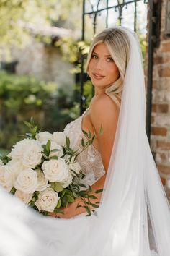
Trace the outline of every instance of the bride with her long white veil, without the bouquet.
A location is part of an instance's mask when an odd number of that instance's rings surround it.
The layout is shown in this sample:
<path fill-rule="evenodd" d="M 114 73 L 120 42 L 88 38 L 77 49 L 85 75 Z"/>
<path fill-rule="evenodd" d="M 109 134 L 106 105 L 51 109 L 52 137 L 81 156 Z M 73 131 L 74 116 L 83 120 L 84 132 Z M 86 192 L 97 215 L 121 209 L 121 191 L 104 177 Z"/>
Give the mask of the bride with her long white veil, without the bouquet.
<path fill-rule="evenodd" d="M 86 67 L 94 98 L 64 132 L 73 148 L 81 146 L 82 129 L 96 134 L 79 163 L 86 184 L 104 189 L 99 208 L 85 217 L 83 208 L 75 210 L 78 200 L 61 218 L 42 217 L 1 191 L 0 255 L 170 255 L 169 202 L 146 136 L 138 36 L 120 26 L 102 31 Z"/>

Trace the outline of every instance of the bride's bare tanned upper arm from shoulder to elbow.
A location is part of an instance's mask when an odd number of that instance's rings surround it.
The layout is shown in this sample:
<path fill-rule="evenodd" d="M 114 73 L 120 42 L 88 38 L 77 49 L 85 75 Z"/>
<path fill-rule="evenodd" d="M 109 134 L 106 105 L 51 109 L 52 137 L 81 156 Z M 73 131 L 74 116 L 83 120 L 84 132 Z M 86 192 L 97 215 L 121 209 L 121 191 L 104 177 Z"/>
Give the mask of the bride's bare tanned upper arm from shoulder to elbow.
<path fill-rule="evenodd" d="M 104 169 L 107 171 L 112 147 L 115 140 L 119 108 L 108 95 L 99 95 L 91 101 L 90 117 L 96 132 L 97 145 L 102 156 Z M 102 135 L 100 129 L 102 127 Z"/>

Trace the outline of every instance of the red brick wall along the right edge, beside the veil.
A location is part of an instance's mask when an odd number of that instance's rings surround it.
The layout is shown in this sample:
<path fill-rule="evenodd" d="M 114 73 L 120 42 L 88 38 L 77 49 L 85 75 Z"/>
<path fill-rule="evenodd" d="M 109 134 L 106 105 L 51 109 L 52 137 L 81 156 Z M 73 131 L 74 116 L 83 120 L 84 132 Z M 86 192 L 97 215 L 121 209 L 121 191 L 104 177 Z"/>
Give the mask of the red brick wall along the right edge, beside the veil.
<path fill-rule="evenodd" d="M 151 150 L 170 199 L 170 37 L 165 35 L 167 1 L 162 1 L 161 41 L 154 50 L 153 59 Z"/>

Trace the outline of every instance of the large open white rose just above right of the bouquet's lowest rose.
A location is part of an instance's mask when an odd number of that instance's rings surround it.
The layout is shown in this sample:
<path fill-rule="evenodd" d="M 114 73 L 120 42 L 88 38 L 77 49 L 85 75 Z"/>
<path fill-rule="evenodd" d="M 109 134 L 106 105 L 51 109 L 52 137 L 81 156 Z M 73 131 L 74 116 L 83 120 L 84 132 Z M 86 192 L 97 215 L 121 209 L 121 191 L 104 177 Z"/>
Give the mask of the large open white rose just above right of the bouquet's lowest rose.
<path fill-rule="evenodd" d="M 42 170 L 44 171 L 45 178 L 50 182 L 63 182 L 63 180 L 68 178 L 69 174 L 68 166 L 62 158 L 44 161 Z"/>

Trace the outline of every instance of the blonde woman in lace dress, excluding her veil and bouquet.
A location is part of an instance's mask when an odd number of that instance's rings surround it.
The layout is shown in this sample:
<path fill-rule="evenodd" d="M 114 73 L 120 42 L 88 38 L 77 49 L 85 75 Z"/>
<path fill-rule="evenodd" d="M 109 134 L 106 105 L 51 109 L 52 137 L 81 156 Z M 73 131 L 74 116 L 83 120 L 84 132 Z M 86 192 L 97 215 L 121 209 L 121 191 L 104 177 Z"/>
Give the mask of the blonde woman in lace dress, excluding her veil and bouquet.
<path fill-rule="evenodd" d="M 122 82 L 128 63 L 130 42 L 128 36 L 121 30 L 104 30 L 91 43 L 87 61 L 87 72 L 95 88 L 89 108 L 83 115 L 66 126 L 64 132 L 70 137 L 72 148 L 81 148 L 82 129 L 90 130 L 91 135 L 97 135 L 93 144 L 82 153 L 77 160 L 86 174 L 85 184 L 92 186 L 92 191 L 102 189 L 109 166 L 109 158 L 115 139 L 122 94 Z M 114 61 L 114 60 L 115 61 Z M 100 135 L 100 129 L 103 129 Z M 84 139 L 86 139 L 84 137 Z M 96 195 L 97 196 L 97 195 Z M 98 195 L 100 200 L 101 195 Z M 76 205 L 77 199 L 58 214 L 61 218 L 79 216 L 84 208 Z M 84 216 L 84 214 L 81 214 Z"/>

